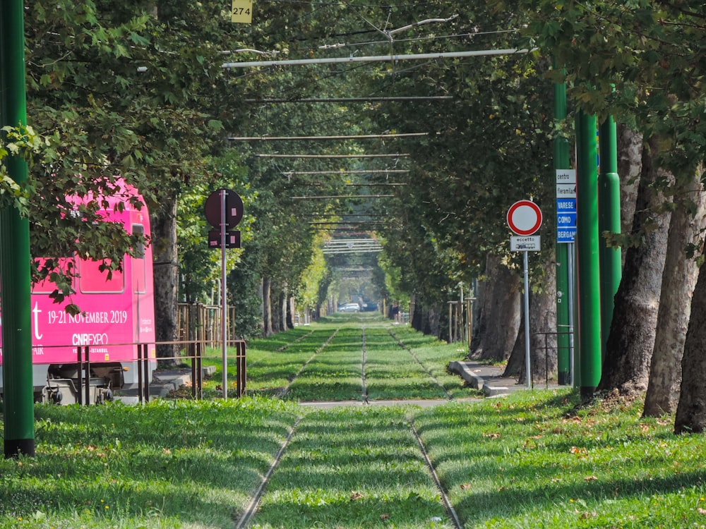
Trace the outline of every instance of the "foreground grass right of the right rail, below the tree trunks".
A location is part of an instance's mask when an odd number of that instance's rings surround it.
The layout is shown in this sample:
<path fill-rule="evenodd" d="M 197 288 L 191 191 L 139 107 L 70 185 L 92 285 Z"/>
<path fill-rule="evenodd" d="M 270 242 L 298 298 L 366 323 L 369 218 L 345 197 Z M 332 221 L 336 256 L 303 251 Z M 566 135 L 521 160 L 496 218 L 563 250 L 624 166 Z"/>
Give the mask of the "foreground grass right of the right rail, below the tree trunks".
<path fill-rule="evenodd" d="M 520 392 L 415 418 L 467 528 L 706 525 L 706 442 L 642 403 L 591 406 L 567 391 Z"/>

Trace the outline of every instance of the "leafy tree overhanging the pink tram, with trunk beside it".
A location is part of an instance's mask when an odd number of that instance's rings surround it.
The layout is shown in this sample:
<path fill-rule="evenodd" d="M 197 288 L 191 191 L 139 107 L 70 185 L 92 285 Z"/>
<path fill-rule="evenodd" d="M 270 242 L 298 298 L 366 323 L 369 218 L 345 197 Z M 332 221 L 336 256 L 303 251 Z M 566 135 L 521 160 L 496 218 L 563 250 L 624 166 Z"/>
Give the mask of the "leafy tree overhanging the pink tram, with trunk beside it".
<path fill-rule="evenodd" d="M 222 130 L 209 114 L 222 75 L 214 45 L 222 18 L 214 9 L 220 15 L 213 3 L 169 3 L 157 6 L 157 18 L 155 6 L 143 1 L 40 1 L 25 17 L 28 118 L 41 125 L 47 145 L 30 180 L 43 199 L 30 212 L 33 252 L 62 255 L 57 245 L 73 249 L 78 240 L 86 255 L 117 266 L 115 256 L 130 251 L 133 239 L 96 236 L 102 230 L 90 223 L 76 226 L 90 212 L 66 214 L 62 201 L 105 193 L 116 174 L 136 185 L 152 213 L 160 340 L 176 338 L 176 200 L 201 174 L 210 139 Z M 198 45 L 189 38 L 196 28 Z"/>

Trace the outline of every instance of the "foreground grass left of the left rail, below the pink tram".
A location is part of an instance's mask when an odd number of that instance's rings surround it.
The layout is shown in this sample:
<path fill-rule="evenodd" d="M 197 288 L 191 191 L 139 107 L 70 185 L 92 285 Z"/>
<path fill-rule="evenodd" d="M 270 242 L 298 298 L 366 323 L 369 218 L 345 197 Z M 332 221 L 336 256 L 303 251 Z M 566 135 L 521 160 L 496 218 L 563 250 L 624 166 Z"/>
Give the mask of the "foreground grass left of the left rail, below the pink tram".
<path fill-rule="evenodd" d="M 297 418 L 279 401 L 37 406 L 37 456 L 0 461 L 0 528 L 232 525 Z"/>

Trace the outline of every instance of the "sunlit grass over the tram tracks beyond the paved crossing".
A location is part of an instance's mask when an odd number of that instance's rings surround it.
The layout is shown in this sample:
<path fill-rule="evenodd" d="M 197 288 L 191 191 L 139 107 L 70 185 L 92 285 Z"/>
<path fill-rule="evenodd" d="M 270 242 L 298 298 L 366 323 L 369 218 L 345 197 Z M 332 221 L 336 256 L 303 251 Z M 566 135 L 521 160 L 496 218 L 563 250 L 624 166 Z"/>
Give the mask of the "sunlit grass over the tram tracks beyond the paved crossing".
<path fill-rule="evenodd" d="M 447 370 L 448 363 L 464 353 L 458 344 L 445 345 L 378 315 L 339 314 L 323 323 L 249 343 L 247 392 L 258 396 L 285 392 L 284 398 L 294 401 L 362 401 L 365 372 L 369 400 L 479 397 L 477 390 Z M 217 368 L 205 382 L 205 394 L 219 396 L 220 351 L 208 351 L 203 363 Z M 232 389 L 234 350 L 229 353 L 228 370 Z"/>

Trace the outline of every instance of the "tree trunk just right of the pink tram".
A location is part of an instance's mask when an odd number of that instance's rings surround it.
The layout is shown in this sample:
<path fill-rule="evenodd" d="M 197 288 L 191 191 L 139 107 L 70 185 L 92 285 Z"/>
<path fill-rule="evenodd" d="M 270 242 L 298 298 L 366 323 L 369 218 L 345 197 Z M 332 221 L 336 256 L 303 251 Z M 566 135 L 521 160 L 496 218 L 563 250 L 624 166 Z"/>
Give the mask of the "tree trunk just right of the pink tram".
<path fill-rule="evenodd" d="M 177 197 L 162 199 L 162 208 L 151 218 L 152 253 L 155 281 L 155 339 L 173 342 L 179 339 L 177 324 Z M 176 345 L 157 345 L 158 358 L 176 358 Z M 172 360 L 175 362 L 176 360 Z"/>

